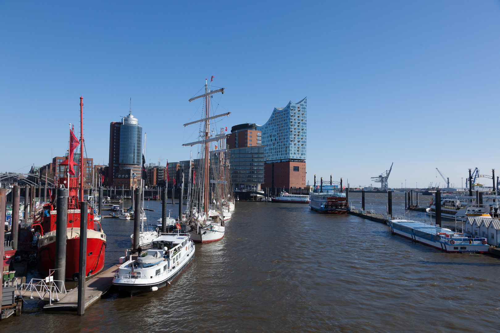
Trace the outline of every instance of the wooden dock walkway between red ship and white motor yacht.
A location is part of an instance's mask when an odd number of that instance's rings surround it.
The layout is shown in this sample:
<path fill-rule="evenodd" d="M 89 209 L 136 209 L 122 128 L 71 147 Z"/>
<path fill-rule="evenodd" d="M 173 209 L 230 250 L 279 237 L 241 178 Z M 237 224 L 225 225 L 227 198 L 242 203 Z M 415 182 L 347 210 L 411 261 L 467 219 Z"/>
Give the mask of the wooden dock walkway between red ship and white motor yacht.
<path fill-rule="evenodd" d="M 114 265 L 94 278 L 85 282 L 85 309 L 99 300 L 110 287 L 114 273 L 118 271 L 120 264 Z M 76 311 L 78 302 L 78 287 L 72 289 L 60 300 L 52 305 L 43 307 L 44 311 Z"/>

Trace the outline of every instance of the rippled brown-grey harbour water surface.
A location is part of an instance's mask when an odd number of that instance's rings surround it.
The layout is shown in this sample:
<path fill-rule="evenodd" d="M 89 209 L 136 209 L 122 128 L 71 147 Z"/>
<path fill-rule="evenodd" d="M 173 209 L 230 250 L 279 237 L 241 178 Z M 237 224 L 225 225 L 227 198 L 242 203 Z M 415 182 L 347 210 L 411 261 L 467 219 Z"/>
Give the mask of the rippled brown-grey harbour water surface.
<path fill-rule="evenodd" d="M 359 193 L 349 200 L 360 206 Z M 385 212 L 384 194 L 366 209 Z M 422 200 L 419 197 L 419 200 Z M 393 215 L 404 197 L 393 194 Z M 428 202 L 428 199 L 426 200 Z M 176 206 L 169 205 L 174 211 Z M 161 215 L 150 202 L 149 221 Z M 176 214 L 173 214 L 176 215 Z M 411 213 L 423 221 L 423 213 Z M 106 265 L 130 246 L 133 222 L 104 219 Z M 225 237 L 196 245 L 168 288 L 107 298 L 84 317 L 28 301 L 1 332 L 498 332 L 500 260 L 447 254 L 356 216 L 307 205 L 237 202 Z"/>

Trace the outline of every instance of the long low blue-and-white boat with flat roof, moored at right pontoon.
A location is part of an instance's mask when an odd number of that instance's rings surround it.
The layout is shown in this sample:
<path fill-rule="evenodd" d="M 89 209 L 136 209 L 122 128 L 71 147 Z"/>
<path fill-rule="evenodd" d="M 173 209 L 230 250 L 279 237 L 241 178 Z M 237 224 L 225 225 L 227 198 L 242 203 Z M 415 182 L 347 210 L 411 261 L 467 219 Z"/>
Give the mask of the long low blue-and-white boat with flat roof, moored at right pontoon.
<path fill-rule="evenodd" d="M 450 229 L 411 220 L 391 220 L 390 231 L 444 252 L 488 253 L 489 248 L 485 238 L 455 233 Z"/>

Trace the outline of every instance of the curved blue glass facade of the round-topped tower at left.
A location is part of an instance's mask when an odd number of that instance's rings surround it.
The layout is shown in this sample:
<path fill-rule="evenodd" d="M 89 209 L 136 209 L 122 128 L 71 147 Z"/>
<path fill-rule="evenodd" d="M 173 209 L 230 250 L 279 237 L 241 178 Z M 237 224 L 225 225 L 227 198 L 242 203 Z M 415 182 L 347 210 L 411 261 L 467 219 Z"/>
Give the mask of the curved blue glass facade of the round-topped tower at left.
<path fill-rule="evenodd" d="M 142 126 L 122 124 L 120 126 L 119 164 L 140 165 L 142 163 Z"/>

